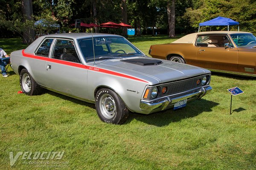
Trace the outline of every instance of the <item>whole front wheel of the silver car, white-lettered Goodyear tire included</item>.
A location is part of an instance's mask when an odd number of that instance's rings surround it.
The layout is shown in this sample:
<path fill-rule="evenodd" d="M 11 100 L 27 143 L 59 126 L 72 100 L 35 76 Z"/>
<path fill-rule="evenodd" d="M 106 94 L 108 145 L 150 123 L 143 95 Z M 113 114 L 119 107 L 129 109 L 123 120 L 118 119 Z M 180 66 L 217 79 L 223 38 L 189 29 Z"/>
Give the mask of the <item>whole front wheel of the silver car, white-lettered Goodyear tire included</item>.
<path fill-rule="evenodd" d="M 99 118 L 106 123 L 122 124 L 129 116 L 129 110 L 122 99 L 108 88 L 97 91 L 95 107 Z"/>

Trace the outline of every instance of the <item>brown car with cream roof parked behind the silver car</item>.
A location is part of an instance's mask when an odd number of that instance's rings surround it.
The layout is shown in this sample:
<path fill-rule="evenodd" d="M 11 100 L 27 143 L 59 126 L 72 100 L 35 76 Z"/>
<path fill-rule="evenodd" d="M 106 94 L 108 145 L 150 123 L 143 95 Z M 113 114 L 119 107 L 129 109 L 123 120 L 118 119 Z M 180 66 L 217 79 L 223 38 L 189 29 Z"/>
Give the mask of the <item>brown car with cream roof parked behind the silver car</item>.
<path fill-rule="evenodd" d="M 169 44 L 151 45 L 148 54 L 211 71 L 256 77 L 256 37 L 250 32 L 188 34 Z"/>

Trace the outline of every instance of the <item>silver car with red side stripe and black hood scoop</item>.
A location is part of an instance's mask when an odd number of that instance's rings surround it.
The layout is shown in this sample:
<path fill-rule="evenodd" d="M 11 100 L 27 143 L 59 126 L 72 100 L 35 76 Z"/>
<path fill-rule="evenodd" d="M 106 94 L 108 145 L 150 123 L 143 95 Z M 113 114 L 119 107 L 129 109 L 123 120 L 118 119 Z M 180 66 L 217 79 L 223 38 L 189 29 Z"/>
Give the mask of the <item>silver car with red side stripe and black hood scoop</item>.
<path fill-rule="evenodd" d="M 28 95 L 42 88 L 95 103 L 103 122 L 121 124 L 129 112 L 182 108 L 212 90 L 211 72 L 147 57 L 112 34 L 52 34 L 11 54 L 12 68 Z"/>

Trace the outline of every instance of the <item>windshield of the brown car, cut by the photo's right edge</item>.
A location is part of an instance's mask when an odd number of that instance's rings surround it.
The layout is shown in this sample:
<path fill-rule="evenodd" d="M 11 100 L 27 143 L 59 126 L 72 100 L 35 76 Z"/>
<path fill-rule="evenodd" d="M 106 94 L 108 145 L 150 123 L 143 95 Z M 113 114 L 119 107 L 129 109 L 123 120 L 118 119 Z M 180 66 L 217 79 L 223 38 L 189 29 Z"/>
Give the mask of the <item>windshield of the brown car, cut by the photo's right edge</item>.
<path fill-rule="evenodd" d="M 256 45 L 256 37 L 253 34 L 231 34 L 238 47 L 251 47 Z"/>

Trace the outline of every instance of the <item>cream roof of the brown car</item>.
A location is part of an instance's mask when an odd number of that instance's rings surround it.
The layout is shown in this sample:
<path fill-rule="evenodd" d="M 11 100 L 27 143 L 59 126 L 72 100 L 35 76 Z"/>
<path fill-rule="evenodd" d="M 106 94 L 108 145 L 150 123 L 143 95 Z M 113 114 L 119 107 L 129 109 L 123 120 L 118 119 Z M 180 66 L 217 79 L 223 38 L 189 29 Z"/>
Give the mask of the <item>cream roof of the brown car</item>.
<path fill-rule="evenodd" d="M 185 35 L 184 37 L 181 37 L 180 39 L 172 42 L 172 43 L 189 43 L 192 44 L 195 42 L 195 38 L 197 35 L 204 35 L 204 34 L 252 34 L 250 32 L 244 32 L 244 31 L 205 31 L 205 32 L 196 32 L 192 34 Z"/>

